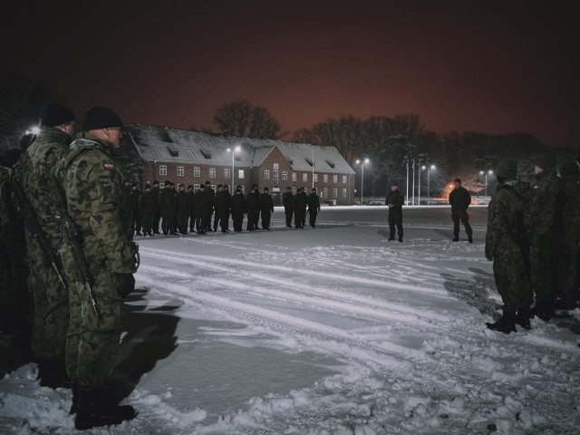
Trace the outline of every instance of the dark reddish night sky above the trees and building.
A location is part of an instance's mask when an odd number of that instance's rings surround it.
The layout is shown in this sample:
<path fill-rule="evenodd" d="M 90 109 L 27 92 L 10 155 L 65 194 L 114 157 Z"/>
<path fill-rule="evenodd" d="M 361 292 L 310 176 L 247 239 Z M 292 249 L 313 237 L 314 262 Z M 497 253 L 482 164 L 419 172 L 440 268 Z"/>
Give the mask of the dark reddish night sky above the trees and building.
<path fill-rule="evenodd" d="M 3 69 L 125 121 L 216 130 L 247 100 L 287 131 L 418 113 L 438 132 L 527 131 L 580 148 L 580 2 L 26 2 Z"/>

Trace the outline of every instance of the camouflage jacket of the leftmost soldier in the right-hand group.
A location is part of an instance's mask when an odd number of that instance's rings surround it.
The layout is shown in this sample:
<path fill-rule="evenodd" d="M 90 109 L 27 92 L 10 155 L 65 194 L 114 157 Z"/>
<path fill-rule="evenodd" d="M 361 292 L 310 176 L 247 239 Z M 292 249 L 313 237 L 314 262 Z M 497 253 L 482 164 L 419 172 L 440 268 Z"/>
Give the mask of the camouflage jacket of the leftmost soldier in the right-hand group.
<path fill-rule="evenodd" d="M 486 258 L 505 258 L 521 252 L 525 197 L 516 180 L 498 186 L 488 206 Z"/>

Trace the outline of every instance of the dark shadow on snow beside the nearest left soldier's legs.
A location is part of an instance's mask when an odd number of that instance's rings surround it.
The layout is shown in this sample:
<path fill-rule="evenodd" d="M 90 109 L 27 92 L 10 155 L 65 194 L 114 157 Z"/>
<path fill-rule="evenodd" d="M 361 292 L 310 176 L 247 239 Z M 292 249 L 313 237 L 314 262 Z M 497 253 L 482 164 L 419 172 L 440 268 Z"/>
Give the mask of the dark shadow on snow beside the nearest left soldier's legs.
<path fill-rule="evenodd" d="M 121 398 L 127 397 L 160 360 L 177 348 L 176 329 L 179 303 L 147 307 L 147 288 L 136 289 L 125 304 L 126 333 L 121 340 L 112 379 Z"/>

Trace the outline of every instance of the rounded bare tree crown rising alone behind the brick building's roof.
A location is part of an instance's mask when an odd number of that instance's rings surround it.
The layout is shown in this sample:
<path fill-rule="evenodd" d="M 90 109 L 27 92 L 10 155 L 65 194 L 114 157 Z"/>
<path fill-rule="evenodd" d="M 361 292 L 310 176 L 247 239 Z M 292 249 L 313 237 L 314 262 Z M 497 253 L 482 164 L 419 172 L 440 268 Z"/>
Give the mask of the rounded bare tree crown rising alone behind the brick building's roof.
<path fill-rule="evenodd" d="M 280 124 L 269 111 L 246 100 L 224 104 L 214 121 L 224 134 L 257 139 L 279 139 Z"/>

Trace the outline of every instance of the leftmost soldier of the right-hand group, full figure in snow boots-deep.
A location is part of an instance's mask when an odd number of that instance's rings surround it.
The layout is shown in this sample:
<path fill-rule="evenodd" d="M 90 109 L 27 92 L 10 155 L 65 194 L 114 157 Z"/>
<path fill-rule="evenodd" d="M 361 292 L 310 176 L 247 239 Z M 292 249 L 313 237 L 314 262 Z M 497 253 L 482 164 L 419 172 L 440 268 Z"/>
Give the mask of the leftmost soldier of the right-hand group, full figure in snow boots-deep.
<path fill-rule="evenodd" d="M 529 307 L 533 302 L 528 280 L 529 249 L 524 225 L 525 197 L 517 183 L 517 163 L 501 160 L 496 169 L 498 189 L 488 207 L 486 258 L 493 261 L 496 287 L 504 303 L 501 319 L 487 324 L 502 333 L 516 332 L 516 324 L 530 328 Z"/>

